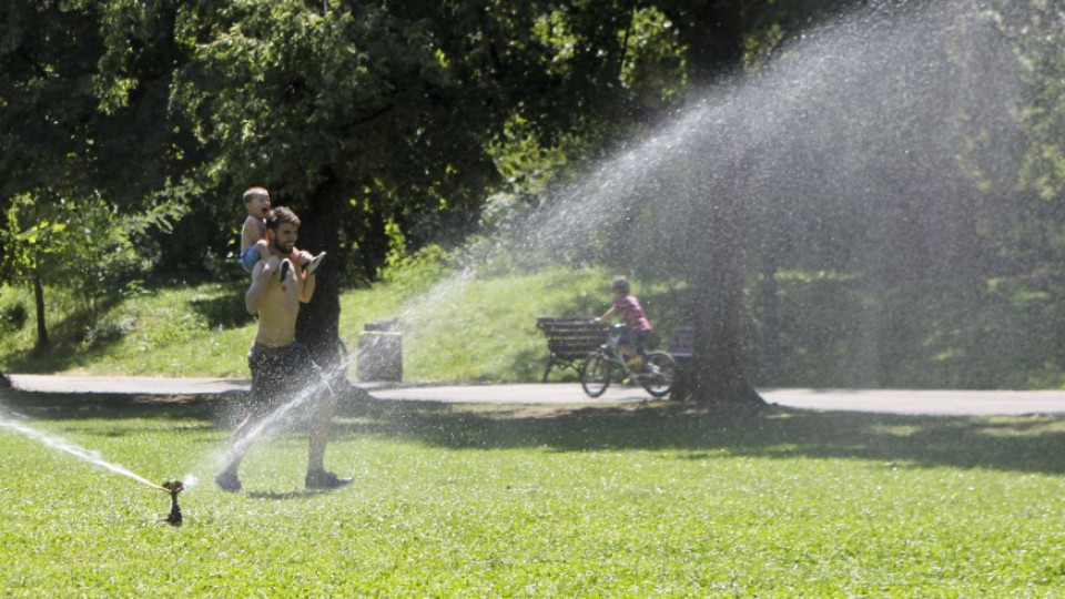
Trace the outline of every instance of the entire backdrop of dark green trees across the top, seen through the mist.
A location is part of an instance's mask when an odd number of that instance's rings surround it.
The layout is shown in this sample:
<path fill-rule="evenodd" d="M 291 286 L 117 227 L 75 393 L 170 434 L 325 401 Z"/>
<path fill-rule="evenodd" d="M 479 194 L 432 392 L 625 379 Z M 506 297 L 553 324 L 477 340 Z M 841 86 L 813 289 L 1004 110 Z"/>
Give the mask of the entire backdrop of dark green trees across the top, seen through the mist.
<path fill-rule="evenodd" d="M 138 257 L 97 266 L 239 276 L 216 265 L 235 252 L 241 192 L 264 185 L 302 216 L 301 245 L 331 255 L 300 327 L 329 361 L 341 287 L 379 276 L 397 246 L 455 245 L 508 223 L 527 244 L 596 226 L 577 254 L 697 291 L 704 367 L 690 395 L 747 396 L 750 329 L 777 352 L 781 272 L 930 297 L 1054 280 L 1065 181 L 1056 10 L 6 2 L 7 280 L 53 257 L 89 276 L 79 226 Z M 597 174 L 604 165 L 612 172 Z M 581 224 L 581 194 L 612 197 Z M 523 224 L 528 213 L 536 227 Z M 640 243 L 620 243 L 625 232 Z"/>

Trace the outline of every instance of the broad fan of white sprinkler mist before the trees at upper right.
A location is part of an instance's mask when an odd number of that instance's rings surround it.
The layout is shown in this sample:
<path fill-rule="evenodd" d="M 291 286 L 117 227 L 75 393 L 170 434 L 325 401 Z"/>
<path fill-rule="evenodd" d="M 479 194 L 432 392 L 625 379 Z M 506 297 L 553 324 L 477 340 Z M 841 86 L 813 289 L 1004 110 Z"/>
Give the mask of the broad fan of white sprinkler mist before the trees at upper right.
<path fill-rule="evenodd" d="M 850 14 L 785 44 L 758 74 L 702 90 L 559 190 L 516 227 L 518 246 L 669 268 L 703 260 L 691 240 L 738 204 L 752 247 L 891 262 L 920 241 L 921 256 L 950 271 L 966 251 L 955 223 L 987 197 L 977 187 L 1016 171 L 1020 89 L 1016 57 L 974 3 Z M 911 210 L 924 235 L 905 237 L 892 210 Z"/>

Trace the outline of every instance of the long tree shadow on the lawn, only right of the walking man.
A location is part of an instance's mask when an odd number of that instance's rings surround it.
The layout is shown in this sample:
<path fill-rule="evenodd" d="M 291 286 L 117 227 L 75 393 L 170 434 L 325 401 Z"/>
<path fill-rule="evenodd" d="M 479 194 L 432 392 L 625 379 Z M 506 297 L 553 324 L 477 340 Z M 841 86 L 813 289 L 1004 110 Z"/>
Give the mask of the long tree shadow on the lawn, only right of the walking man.
<path fill-rule="evenodd" d="M 722 414 L 699 406 L 495 407 L 389 403 L 362 409 L 346 434 L 409 438 L 448 449 L 680 450 L 729 456 L 843 458 L 892 467 L 1065 474 L 1065 416 L 943 417 L 812 412 L 772 406 Z"/>

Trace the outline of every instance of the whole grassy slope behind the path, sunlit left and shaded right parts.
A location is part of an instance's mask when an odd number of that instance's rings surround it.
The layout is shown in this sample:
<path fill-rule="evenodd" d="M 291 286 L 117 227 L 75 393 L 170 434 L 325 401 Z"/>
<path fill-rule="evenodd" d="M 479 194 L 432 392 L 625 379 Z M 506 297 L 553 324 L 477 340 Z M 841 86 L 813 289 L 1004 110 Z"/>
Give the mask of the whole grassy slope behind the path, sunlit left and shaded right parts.
<path fill-rule="evenodd" d="M 611 273 L 602 270 L 434 283 L 435 273 L 433 264 L 415 264 L 392 283 L 345 292 L 341 335 L 348 348 L 356 349 L 364 323 L 399 317 L 406 380 L 538 380 L 547 351 L 535 318 L 591 316 L 610 301 Z M 1055 294 L 912 301 L 816 276 L 782 275 L 780 283 L 782 362 L 758 355 L 761 308 L 753 296 L 744 308 L 748 375 L 760 386 L 1065 388 L 1065 344 L 1046 325 L 1065 317 Z M 688 292 L 669 283 L 637 283 L 635 291 L 667 337 Z M 243 293 L 243 282 L 148 290 L 89 317 L 49 291 L 54 347 L 36 355 L 32 298 L 0 288 L 0 370 L 245 377 L 254 322 Z M 571 379 L 572 372 L 552 376 Z"/>

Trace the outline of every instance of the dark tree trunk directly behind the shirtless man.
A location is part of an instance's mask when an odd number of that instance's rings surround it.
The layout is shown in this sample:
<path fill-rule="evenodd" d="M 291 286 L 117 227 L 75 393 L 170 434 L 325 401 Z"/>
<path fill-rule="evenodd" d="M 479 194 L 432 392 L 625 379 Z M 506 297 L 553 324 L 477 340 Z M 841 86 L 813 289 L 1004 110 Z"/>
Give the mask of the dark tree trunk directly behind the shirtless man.
<path fill-rule="evenodd" d="M 315 272 L 314 296 L 300 309 L 296 338 L 307 346 L 314 361 L 326 372 L 346 367 L 339 336 L 339 275 L 344 272 L 344 252 L 339 242 L 342 203 L 339 181 L 329 173 L 300 215 L 297 246 L 312 254 L 326 252 L 327 256 Z"/>

